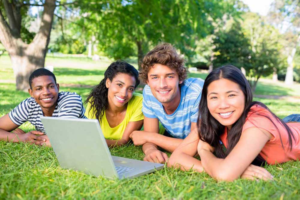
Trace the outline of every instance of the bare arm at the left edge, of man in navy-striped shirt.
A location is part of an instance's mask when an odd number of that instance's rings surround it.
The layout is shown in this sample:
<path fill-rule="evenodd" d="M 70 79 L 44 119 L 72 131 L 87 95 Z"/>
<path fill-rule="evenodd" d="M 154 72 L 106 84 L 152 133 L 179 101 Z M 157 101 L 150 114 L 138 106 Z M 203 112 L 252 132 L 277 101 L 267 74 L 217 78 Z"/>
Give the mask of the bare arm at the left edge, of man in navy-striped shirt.
<path fill-rule="evenodd" d="M 18 128 L 19 125 L 13 123 L 9 118 L 8 114 L 0 118 L 0 140 L 7 140 L 12 142 L 31 142 L 37 145 L 43 145 L 46 141 L 41 136 L 36 136 L 35 134 L 42 135 L 39 131 L 31 131 L 28 133 L 10 133 L 10 131 Z"/>

